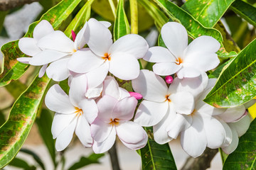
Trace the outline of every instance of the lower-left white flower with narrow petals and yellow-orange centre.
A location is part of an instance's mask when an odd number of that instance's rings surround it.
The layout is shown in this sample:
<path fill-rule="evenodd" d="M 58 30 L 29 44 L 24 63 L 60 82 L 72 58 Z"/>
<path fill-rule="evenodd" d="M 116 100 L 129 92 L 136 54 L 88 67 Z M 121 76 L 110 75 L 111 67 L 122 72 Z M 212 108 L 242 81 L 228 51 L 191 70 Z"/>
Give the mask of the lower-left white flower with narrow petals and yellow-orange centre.
<path fill-rule="evenodd" d="M 65 149 L 73 138 L 78 136 L 84 147 L 92 146 L 90 123 L 97 117 L 97 105 L 94 100 L 85 98 L 86 77 L 79 75 L 70 84 L 69 96 L 58 84 L 50 87 L 46 94 L 46 106 L 55 111 L 52 125 L 53 139 L 57 138 L 57 151 Z"/>

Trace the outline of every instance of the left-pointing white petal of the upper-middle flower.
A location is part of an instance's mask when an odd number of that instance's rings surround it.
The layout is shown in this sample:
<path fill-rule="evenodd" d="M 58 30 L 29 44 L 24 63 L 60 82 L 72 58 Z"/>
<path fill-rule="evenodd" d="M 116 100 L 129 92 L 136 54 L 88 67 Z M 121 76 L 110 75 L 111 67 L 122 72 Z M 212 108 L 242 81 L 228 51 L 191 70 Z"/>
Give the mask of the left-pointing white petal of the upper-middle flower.
<path fill-rule="evenodd" d="M 70 62 L 68 62 L 68 69 L 77 73 L 87 73 L 100 67 L 104 61 L 89 48 L 83 48 L 73 54 Z"/>

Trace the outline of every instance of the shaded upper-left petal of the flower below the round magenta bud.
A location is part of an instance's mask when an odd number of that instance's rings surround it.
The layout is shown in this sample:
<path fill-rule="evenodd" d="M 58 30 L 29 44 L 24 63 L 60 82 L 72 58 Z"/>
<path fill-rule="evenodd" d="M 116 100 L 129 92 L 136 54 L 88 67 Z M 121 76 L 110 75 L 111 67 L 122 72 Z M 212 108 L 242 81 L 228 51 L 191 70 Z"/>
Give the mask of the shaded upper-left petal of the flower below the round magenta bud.
<path fill-rule="evenodd" d="M 164 79 L 149 70 L 142 69 L 140 71 L 139 77 L 132 80 L 132 88 L 135 92 L 142 94 L 146 100 L 166 101 L 168 89 Z"/>

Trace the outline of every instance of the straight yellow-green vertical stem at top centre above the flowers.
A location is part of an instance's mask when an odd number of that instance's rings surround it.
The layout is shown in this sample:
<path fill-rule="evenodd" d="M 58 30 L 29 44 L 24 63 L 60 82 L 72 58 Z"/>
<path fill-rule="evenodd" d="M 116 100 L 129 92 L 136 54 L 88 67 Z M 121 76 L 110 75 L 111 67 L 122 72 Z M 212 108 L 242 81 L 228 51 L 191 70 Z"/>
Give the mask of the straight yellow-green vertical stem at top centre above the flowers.
<path fill-rule="evenodd" d="M 130 0 L 131 33 L 138 34 L 138 4 L 137 0 Z"/>

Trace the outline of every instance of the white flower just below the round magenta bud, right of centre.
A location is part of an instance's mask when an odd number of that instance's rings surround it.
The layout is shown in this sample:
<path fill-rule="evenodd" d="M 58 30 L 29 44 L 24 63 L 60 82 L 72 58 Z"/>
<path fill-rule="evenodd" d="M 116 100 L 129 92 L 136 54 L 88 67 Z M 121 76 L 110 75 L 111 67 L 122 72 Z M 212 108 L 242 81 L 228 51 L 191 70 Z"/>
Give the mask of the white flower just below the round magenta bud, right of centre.
<path fill-rule="evenodd" d="M 193 95 L 188 91 L 176 91 L 173 86 L 171 84 L 168 88 L 164 79 L 146 69 L 141 70 L 139 77 L 132 80 L 134 91 L 144 98 L 134 122 L 146 127 L 153 126 L 154 140 L 159 144 L 176 138 L 191 123 L 191 116 L 188 115 L 193 111 Z M 166 128 L 170 125 L 174 128 L 169 130 L 168 135 Z"/>

